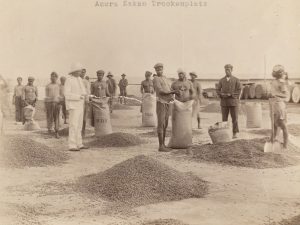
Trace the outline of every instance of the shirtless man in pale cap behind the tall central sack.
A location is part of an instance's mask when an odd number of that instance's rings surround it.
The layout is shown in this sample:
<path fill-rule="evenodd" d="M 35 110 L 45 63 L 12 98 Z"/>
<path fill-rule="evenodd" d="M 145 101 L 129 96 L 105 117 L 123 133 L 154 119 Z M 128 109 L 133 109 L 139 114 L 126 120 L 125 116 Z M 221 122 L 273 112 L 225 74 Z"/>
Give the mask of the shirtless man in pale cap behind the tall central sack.
<path fill-rule="evenodd" d="M 178 80 L 171 85 L 171 90 L 177 91 L 175 99 L 180 102 L 187 102 L 194 98 L 194 88 L 192 82 L 186 79 L 186 73 L 178 70 Z"/>

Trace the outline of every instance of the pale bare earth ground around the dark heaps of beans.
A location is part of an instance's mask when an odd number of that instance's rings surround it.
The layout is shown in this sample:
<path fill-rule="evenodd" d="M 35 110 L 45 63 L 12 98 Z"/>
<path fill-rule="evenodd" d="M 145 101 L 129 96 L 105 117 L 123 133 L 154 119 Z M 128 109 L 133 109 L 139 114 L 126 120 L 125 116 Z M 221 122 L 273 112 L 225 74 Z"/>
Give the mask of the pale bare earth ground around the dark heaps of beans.
<path fill-rule="evenodd" d="M 141 127 L 139 109 L 114 111 L 113 130 L 132 134 L 152 131 L 153 128 Z M 300 124 L 300 104 L 289 105 L 289 112 L 289 122 Z M 202 113 L 203 129 L 195 131 L 194 143 L 208 143 L 207 127 L 220 119 L 218 113 Z M 261 137 L 247 132 L 245 120 L 241 115 L 240 138 Z M 269 124 L 268 112 L 264 111 L 263 128 L 269 128 Z M 40 125 L 45 130 L 45 122 Z M 66 137 L 57 140 L 38 132 L 23 131 L 21 125 L 14 125 L 12 121 L 8 121 L 6 127 L 7 134 L 25 134 L 57 151 L 67 150 Z M 0 224 L 127 225 L 173 218 L 190 225 L 266 225 L 300 214 L 300 165 L 253 169 L 199 163 L 186 156 L 159 153 L 156 137 L 141 137 L 146 140 L 141 146 L 69 153 L 71 159 L 58 167 L 1 167 Z M 163 202 L 141 206 L 125 214 L 111 214 L 106 202 L 96 201 L 71 188 L 70 183 L 82 175 L 104 171 L 140 154 L 208 181 L 209 194 L 201 199 Z"/>

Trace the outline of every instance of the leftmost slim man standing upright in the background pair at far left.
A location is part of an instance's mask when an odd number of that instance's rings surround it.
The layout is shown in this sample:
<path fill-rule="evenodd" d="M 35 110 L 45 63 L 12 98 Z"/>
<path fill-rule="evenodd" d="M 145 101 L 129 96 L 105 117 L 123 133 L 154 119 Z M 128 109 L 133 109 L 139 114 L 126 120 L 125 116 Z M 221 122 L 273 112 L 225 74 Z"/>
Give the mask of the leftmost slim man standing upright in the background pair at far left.
<path fill-rule="evenodd" d="M 18 85 L 14 88 L 13 104 L 15 105 L 15 118 L 16 123 L 23 122 L 23 103 L 22 93 L 24 85 L 22 85 L 22 77 L 17 78 Z"/>

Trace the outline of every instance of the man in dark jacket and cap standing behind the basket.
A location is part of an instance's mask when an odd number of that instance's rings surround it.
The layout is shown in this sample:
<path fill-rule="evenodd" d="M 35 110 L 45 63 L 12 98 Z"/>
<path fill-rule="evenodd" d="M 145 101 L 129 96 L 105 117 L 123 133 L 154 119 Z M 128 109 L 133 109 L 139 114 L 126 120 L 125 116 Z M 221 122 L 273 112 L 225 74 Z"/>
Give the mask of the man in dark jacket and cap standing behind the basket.
<path fill-rule="evenodd" d="M 221 98 L 222 120 L 228 121 L 228 115 L 230 113 L 232 119 L 232 138 L 237 138 L 237 133 L 239 132 L 239 96 L 242 87 L 239 79 L 232 75 L 233 66 L 227 64 L 224 68 L 226 75 L 219 81 L 217 86 L 217 93 Z"/>

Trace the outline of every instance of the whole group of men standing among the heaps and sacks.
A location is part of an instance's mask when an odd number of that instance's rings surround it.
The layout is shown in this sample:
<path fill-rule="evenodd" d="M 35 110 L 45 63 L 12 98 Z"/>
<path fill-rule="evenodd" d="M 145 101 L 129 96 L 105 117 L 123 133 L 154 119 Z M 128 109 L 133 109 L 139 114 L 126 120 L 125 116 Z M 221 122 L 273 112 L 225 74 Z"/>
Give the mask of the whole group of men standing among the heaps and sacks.
<path fill-rule="evenodd" d="M 159 141 L 159 151 L 167 152 L 171 149 L 166 147 L 165 138 L 168 127 L 170 112 L 170 104 L 176 99 L 180 102 L 193 100 L 193 116 L 197 118 L 198 128 L 200 125 L 199 108 L 202 99 L 202 89 L 199 81 L 196 80 L 197 73 L 190 72 L 190 80 L 186 77 L 186 72 L 179 69 L 178 79 L 173 83 L 164 76 L 163 64 L 154 65 L 155 74 L 151 79 L 152 72 L 146 71 L 145 80 L 141 82 L 140 91 L 142 94 L 156 94 L 156 113 L 157 113 L 157 136 Z M 222 121 L 228 121 L 229 114 L 232 118 L 232 138 L 237 138 L 239 133 L 238 126 L 238 107 L 239 96 L 241 94 L 242 85 L 238 78 L 232 75 L 233 66 L 225 65 L 225 76 L 221 78 L 217 85 L 217 94 L 220 97 L 220 105 L 222 112 Z M 48 132 L 52 132 L 54 123 L 55 136 L 59 138 L 59 114 L 62 108 L 64 122 L 66 123 L 67 112 L 69 116 L 69 139 L 68 146 L 70 151 L 79 151 L 88 148 L 82 143 L 82 137 L 85 135 L 87 104 L 91 97 L 109 97 L 109 108 L 112 112 L 112 99 L 116 96 L 116 81 L 113 79 L 112 73 L 108 72 L 105 81 L 103 70 L 98 70 L 97 80 L 92 84 L 89 77 L 86 76 L 86 70 L 81 64 L 72 64 L 68 78 L 60 77 L 60 84 L 57 82 L 58 74 L 51 73 L 51 82 L 46 86 L 45 106 L 47 114 Z M 286 128 L 286 106 L 284 99 L 287 95 L 287 73 L 284 67 L 276 65 L 272 72 L 275 80 L 271 84 L 270 98 L 273 99 L 274 113 L 274 130 L 281 128 L 283 131 L 283 147 L 287 148 L 288 133 Z M 125 103 L 127 96 L 126 87 L 128 81 L 122 74 L 119 82 L 120 102 Z M 17 79 L 18 85 L 14 89 L 13 103 L 16 108 L 16 121 L 24 123 L 22 116 L 22 108 L 27 105 L 35 106 L 38 99 L 37 88 L 33 85 L 34 78 L 28 78 L 28 84 L 22 85 L 22 78 Z M 276 133 L 275 133 L 276 135 Z M 271 138 L 274 139 L 273 135 Z"/>

